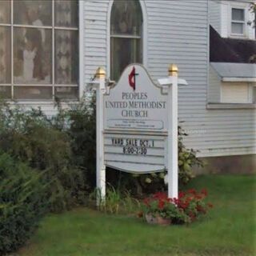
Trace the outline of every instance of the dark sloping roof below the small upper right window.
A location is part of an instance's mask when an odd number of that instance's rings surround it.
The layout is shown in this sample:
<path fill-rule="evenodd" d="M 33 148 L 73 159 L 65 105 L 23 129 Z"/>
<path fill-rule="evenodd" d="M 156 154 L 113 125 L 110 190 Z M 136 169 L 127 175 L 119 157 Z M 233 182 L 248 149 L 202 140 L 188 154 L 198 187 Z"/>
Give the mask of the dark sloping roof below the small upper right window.
<path fill-rule="evenodd" d="M 210 26 L 210 62 L 256 63 L 256 41 L 249 39 L 222 38 Z"/>

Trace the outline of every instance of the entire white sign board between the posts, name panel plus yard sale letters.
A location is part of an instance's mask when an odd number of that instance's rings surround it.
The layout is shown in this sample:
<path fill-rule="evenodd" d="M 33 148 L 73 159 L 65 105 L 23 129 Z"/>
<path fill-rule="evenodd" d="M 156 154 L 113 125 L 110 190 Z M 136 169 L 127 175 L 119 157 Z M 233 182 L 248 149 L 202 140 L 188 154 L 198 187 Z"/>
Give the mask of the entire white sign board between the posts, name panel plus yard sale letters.
<path fill-rule="evenodd" d="M 145 68 L 127 66 L 103 104 L 106 166 L 138 173 L 165 170 L 167 95 Z"/>

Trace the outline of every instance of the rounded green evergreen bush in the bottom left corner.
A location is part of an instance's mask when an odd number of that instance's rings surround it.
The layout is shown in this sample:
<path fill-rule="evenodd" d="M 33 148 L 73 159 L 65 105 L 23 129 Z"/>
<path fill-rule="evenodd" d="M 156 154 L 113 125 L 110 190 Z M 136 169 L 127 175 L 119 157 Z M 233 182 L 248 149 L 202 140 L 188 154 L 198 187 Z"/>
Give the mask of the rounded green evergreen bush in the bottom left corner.
<path fill-rule="evenodd" d="M 42 174 L 0 154 L 0 254 L 17 250 L 33 234 L 47 209 Z"/>

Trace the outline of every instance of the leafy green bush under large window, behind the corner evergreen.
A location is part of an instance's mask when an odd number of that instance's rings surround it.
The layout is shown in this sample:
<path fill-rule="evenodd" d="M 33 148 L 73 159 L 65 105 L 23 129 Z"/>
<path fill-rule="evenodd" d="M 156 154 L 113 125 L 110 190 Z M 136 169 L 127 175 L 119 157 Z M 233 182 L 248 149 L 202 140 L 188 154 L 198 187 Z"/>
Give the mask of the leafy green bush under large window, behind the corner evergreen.
<path fill-rule="evenodd" d="M 84 170 L 72 163 L 70 136 L 40 109 L 0 108 L 0 150 L 43 172 L 50 182 L 50 210 L 60 211 L 85 200 Z"/>

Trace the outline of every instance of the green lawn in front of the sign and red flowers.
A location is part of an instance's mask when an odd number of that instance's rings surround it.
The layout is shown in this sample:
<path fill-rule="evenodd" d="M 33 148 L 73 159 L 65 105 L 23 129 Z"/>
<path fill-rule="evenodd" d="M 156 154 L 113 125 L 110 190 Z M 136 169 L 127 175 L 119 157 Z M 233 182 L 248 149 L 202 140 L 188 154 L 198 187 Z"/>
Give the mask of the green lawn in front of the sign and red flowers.
<path fill-rule="evenodd" d="M 256 255 L 255 184 L 255 176 L 195 178 L 189 187 L 206 187 L 214 209 L 190 226 L 149 226 L 86 208 L 50 214 L 18 255 Z"/>

